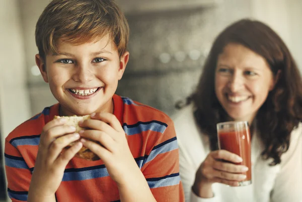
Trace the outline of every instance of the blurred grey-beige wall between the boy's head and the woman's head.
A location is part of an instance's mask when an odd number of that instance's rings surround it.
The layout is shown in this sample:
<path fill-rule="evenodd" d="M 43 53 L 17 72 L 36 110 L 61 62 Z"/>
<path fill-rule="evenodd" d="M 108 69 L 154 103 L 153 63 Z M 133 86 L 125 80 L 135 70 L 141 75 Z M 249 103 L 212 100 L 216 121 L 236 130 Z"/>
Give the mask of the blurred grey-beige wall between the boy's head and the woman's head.
<path fill-rule="evenodd" d="M 117 93 L 172 115 L 175 103 L 195 89 L 217 33 L 251 13 L 250 0 L 126 13 L 130 59 Z"/>

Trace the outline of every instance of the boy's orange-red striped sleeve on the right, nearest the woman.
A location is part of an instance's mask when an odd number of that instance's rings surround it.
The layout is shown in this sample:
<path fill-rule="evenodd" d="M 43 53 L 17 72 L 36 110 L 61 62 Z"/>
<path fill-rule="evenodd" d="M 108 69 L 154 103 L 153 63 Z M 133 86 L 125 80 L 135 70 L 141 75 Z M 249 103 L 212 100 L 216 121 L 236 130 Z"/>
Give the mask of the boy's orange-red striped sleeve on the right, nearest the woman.
<path fill-rule="evenodd" d="M 174 129 L 170 120 L 162 124 L 162 133 L 142 167 L 146 181 L 158 202 L 185 201 L 179 176 L 179 151 Z"/>

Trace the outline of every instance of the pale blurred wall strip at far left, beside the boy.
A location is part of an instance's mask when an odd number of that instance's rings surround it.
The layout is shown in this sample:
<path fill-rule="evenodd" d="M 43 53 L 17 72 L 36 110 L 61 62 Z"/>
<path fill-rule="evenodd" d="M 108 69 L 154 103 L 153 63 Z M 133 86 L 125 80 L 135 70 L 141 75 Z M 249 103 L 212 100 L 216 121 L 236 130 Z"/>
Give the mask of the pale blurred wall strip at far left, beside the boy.
<path fill-rule="evenodd" d="M 0 136 L 2 151 L 4 151 L 4 138 L 7 134 L 31 114 L 21 25 L 19 1 L 2 0 L 0 6 Z M 2 165 L 3 162 L 0 167 L 4 168 Z"/>

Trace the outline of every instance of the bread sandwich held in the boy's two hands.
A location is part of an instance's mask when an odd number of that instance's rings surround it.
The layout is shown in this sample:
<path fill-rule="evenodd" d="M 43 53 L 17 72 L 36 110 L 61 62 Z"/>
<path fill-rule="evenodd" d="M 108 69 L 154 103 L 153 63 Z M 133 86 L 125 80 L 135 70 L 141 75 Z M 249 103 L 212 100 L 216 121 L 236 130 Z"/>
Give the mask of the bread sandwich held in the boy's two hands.
<path fill-rule="evenodd" d="M 67 119 L 67 121 L 64 123 L 64 125 L 74 126 L 75 127 L 75 132 L 79 132 L 80 130 L 85 129 L 85 128 L 79 126 L 79 121 L 90 119 L 90 115 L 85 115 L 85 116 L 76 116 L 76 115 L 74 115 L 74 116 L 54 116 L 54 119 L 62 118 L 62 117 Z M 57 140 L 59 141 L 61 138 L 62 137 L 59 137 L 59 138 L 57 138 Z M 92 141 L 92 140 L 90 140 L 90 141 Z M 70 143 L 67 147 L 64 148 L 64 150 L 70 148 L 71 146 L 73 146 L 75 143 L 78 143 L 78 142 L 79 141 L 75 141 L 73 143 Z M 96 142 L 96 141 L 94 141 L 94 142 Z M 75 157 L 79 157 L 79 158 L 86 159 L 86 160 L 89 160 L 89 161 L 96 161 L 96 160 L 100 159 L 95 153 L 93 153 L 91 150 L 87 149 L 84 146 L 75 155 Z"/>

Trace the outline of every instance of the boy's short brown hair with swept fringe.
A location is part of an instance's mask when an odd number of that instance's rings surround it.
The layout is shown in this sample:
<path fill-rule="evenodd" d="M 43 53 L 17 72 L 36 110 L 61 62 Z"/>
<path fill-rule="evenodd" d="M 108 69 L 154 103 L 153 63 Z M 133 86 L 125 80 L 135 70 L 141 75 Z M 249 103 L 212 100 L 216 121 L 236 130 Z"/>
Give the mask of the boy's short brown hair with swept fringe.
<path fill-rule="evenodd" d="M 121 56 L 127 50 L 129 27 L 114 0 L 53 0 L 41 14 L 35 32 L 44 61 L 47 53 L 57 53 L 59 39 L 83 44 L 107 34 Z"/>

